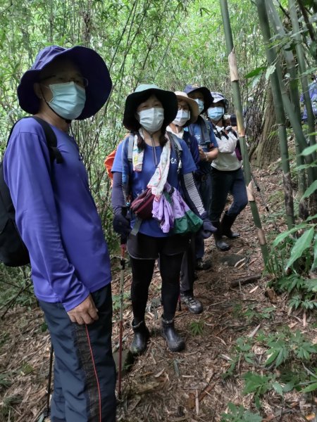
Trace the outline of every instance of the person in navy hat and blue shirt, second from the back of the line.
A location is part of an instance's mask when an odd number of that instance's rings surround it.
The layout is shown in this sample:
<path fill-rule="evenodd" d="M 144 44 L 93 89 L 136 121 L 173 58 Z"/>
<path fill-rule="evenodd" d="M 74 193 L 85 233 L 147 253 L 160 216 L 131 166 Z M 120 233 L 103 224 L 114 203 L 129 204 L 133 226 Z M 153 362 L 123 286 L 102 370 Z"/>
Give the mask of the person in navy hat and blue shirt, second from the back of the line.
<path fill-rule="evenodd" d="M 213 134 L 211 123 L 203 117 L 203 114 L 211 106 L 213 97 L 208 88 L 198 85 L 187 85 L 184 89 L 189 98 L 198 104 L 199 117 L 196 122 L 189 124 L 188 131 L 196 137 L 199 144 L 198 169 L 194 174 L 199 193 L 205 209 L 209 212 L 211 201 L 211 162 L 218 155 L 218 145 Z M 210 261 L 204 261 L 204 239 L 196 237 L 196 269 L 204 270 L 211 267 Z"/>

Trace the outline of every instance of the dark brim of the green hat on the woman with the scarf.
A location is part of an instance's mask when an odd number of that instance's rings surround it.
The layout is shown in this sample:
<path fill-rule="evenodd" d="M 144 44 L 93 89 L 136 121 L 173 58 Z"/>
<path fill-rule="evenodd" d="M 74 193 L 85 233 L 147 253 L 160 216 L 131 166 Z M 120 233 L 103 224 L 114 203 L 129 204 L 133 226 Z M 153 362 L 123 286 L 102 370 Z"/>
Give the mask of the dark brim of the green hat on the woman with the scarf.
<path fill-rule="evenodd" d="M 164 120 L 162 127 L 167 127 L 173 122 L 178 113 L 178 100 L 172 91 L 163 89 L 144 89 L 144 91 L 133 92 L 125 100 L 125 111 L 123 113 L 123 125 L 130 131 L 137 131 L 141 125 L 135 117 L 139 104 L 146 101 L 149 96 L 154 94 L 161 101 L 164 109 Z"/>

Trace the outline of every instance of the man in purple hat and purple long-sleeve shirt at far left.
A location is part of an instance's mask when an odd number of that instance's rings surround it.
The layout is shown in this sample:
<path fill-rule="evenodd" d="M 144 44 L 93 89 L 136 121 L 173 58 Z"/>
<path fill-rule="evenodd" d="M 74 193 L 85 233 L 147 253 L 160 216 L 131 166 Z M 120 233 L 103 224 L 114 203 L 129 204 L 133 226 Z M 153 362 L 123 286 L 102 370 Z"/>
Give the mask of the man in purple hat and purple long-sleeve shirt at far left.
<path fill-rule="evenodd" d="M 42 49 L 20 80 L 18 100 L 49 124 L 62 160 L 51 160 L 44 129 L 32 117 L 15 124 L 4 155 L 15 221 L 54 346 L 51 422 L 116 419 L 110 258 L 80 151 L 68 133 L 72 120 L 104 106 L 111 85 L 96 51 Z"/>

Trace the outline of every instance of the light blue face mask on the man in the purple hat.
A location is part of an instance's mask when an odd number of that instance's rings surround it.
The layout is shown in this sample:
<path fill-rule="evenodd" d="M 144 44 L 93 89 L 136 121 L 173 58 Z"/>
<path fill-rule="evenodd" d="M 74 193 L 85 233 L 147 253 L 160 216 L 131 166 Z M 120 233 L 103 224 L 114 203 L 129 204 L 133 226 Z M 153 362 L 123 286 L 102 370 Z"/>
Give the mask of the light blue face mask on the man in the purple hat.
<path fill-rule="evenodd" d="M 49 88 L 53 98 L 48 104 L 56 114 L 66 120 L 73 120 L 80 116 L 86 102 L 85 88 L 79 87 L 75 82 L 51 84 Z"/>

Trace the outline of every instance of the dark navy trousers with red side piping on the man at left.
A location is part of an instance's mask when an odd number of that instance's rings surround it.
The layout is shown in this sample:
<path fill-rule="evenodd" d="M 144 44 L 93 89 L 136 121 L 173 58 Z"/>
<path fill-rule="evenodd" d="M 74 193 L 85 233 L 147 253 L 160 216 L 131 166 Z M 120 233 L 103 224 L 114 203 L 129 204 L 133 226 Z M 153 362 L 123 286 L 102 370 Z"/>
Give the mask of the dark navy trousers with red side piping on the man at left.
<path fill-rule="evenodd" d="M 111 285 L 92 298 L 99 319 L 89 325 L 71 322 L 61 303 L 39 301 L 55 353 L 51 422 L 116 421 Z"/>

